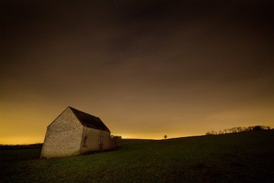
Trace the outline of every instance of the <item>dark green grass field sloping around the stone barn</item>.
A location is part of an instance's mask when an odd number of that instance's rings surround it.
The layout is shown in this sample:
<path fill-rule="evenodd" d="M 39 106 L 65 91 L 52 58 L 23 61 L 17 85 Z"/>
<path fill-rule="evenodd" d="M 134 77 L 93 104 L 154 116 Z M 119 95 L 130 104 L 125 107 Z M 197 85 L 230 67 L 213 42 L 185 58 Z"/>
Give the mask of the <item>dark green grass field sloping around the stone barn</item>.
<path fill-rule="evenodd" d="M 2 150 L 0 182 L 274 182 L 274 131 L 123 140 L 116 151 L 39 160 Z"/>

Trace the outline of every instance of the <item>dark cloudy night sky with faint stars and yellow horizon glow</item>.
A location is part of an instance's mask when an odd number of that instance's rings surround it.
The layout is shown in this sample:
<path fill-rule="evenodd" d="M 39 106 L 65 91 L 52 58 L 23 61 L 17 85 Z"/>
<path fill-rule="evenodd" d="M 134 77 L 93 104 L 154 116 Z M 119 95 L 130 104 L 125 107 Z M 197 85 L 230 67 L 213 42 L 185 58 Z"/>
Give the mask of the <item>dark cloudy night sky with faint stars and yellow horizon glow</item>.
<path fill-rule="evenodd" d="M 123 138 L 274 127 L 273 1 L 0 1 L 0 143 L 67 107 Z"/>

